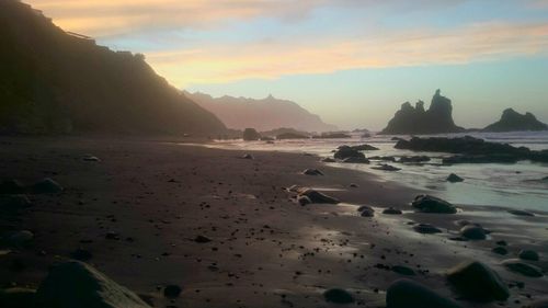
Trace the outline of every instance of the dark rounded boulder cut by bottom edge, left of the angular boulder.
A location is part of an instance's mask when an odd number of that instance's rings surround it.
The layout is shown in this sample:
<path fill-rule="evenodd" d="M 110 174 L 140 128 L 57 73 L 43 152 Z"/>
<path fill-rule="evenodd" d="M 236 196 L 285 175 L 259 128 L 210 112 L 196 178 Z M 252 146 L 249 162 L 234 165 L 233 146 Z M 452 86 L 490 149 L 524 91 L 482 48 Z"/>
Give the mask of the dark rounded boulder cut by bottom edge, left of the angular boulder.
<path fill-rule="evenodd" d="M 392 283 L 386 292 L 386 307 L 459 308 L 460 306 L 420 283 L 410 280 L 399 280 Z"/>

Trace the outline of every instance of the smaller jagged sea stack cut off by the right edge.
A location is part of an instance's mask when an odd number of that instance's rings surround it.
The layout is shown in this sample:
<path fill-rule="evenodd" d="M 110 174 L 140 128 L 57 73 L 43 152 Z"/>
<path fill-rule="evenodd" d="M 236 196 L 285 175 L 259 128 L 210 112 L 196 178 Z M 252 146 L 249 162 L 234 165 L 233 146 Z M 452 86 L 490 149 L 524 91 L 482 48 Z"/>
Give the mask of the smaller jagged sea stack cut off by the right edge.
<path fill-rule="evenodd" d="M 547 130 L 548 125 L 538 121 L 532 113 L 520 114 L 513 109 L 502 113 L 501 119 L 486 128 L 483 132 L 520 132 L 520 130 Z"/>

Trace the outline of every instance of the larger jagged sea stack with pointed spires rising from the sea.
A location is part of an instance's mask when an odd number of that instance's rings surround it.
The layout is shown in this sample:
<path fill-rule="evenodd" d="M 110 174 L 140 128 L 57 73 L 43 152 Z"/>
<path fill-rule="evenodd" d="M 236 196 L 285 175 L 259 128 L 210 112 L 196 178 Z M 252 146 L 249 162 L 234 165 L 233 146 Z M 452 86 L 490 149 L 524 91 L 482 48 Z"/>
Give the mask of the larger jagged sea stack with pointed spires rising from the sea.
<path fill-rule="evenodd" d="M 463 130 L 464 128 L 455 125 L 453 121 L 450 100 L 442 96 L 441 91 L 437 90 L 427 111 L 424 110 L 423 101 L 416 102 L 414 107 L 409 102 L 403 103 L 381 134 L 419 135 Z"/>

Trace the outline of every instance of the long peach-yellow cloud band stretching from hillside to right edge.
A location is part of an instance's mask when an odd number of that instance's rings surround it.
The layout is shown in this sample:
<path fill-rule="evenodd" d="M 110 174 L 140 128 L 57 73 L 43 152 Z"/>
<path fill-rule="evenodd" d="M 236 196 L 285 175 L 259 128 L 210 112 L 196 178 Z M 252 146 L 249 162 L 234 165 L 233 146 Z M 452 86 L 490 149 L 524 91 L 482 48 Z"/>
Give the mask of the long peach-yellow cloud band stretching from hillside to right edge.
<path fill-rule="evenodd" d="M 147 54 L 176 85 L 288 75 L 467 64 L 548 54 L 548 23 L 482 23 L 450 31 L 421 28 L 378 36 L 277 39 Z"/>

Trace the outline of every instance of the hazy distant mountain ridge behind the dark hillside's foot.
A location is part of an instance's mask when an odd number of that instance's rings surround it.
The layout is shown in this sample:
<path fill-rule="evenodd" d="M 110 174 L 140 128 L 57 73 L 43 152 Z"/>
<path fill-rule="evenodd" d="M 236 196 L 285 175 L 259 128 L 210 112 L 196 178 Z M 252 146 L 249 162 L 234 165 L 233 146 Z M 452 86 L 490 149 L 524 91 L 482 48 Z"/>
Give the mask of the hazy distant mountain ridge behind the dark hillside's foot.
<path fill-rule="evenodd" d="M 318 115 L 308 112 L 297 103 L 269 95 L 262 100 L 248 98 L 213 98 L 205 93 L 184 92 L 202 107 L 217 115 L 229 128 L 271 130 L 290 127 L 305 132 L 331 132 L 336 126 L 326 124 Z"/>

